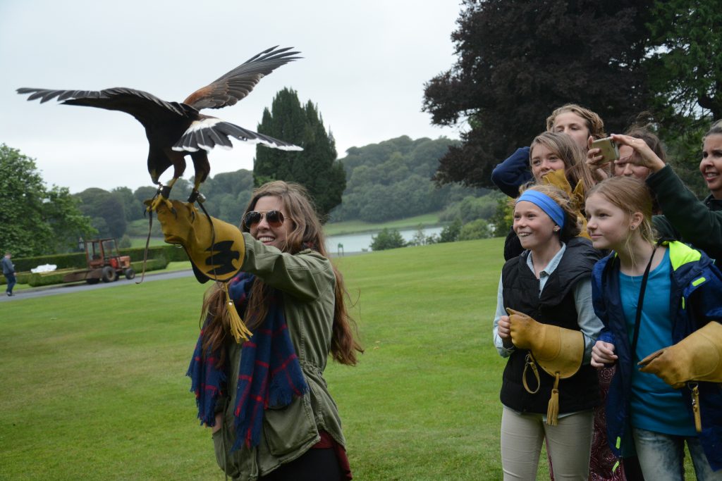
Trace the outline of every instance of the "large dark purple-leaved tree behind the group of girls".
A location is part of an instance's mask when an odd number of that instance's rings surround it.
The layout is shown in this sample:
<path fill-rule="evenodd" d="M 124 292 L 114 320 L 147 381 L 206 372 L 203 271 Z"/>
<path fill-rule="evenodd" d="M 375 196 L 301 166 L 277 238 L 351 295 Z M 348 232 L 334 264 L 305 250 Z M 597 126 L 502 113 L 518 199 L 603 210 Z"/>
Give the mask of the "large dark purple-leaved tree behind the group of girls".
<path fill-rule="evenodd" d="M 425 85 L 432 123 L 465 123 L 437 182 L 489 186 L 490 172 L 575 102 L 622 131 L 648 105 L 640 63 L 652 0 L 464 0 L 451 35 L 458 60 Z"/>

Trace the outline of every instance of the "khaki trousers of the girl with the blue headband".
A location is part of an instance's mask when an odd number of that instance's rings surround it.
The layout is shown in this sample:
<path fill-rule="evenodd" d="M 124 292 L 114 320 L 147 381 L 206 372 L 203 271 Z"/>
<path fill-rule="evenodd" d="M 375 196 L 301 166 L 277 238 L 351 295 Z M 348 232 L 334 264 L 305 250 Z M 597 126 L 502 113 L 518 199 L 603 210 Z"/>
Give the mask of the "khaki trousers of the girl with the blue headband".
<path fill-rule="evenodd" d="M 536 480 L 544 438 L 554 466 L 554 480 L 586 480 L 593 422 L 593 410 L 565 415 L 557 425 L 550 426 L 541 414 L 518 414 L 504 407 L 501 416 L 504 480 Z"/>

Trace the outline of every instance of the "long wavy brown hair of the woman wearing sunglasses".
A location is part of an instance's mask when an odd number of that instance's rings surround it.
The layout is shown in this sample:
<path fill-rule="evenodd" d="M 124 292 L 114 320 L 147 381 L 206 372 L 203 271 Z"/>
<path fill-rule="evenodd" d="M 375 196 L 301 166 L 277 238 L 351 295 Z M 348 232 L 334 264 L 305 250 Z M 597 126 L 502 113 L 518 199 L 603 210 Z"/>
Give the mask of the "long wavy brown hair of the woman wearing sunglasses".
<path fill-rule="evenodd" d="M 282 247 L 283 252 L 295 254 L 304 249 L 312 249 L 329 257 L 326 252 L 326 239 L 323 235 L 321 222 L 318 220 L 313 203 L 302 185 L 294 182 L 276 180 L 268 182 L 253 191 L 253 198 L 245 208 L 244 215 L 256 208 L 258 199 L 266 196 L 280 198 L 287 214 L 287 222 L 293 223 L 293 229 L 287 235 L 286 245 Z M 246 226 L 241 225 L 242 231 L 248 232 Z M 357 362 L 356 353 L 362 353 L 361 345 L 355 339 L 356 324 L 346 308 L 348 293 L 344 285 L 344 278 L 331 263 L 336 276 L 334 286 L 334 325 L 331 334 L 331 356 L 342 364 L 355 366 Z M 248 307 L 245 311 L 245 324 L 253 330 L 261 325 L 268 313 L 268 303 L 271 295 L 271 288 L 261 278 L 256 277 L 251 287 L 251 296 Z M 216 285 L 212 286 L 203 301 L 201 308 L 201 322 L 206 321 L 203 329 L 203 350 L 206 352 L 218 352 L 219 359 L 217 366 L 225 363 L 225 349 L 223 344 L 229 334 L 225 312 L 225 294 Z"/>

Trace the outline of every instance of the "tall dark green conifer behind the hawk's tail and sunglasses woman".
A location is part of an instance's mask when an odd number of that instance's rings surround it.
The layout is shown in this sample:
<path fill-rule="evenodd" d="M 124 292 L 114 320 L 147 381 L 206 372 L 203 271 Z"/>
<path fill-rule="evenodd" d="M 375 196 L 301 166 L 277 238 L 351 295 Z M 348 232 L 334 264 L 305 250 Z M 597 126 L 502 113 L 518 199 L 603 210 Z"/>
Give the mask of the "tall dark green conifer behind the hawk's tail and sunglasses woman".
<path fill-rule="evenodd" d="M 297 93 L 283 89 L 264 110 L 258 132 L 282 138 L 303 151 L 256 148 L 253 179 L 256 186 L 269 180 L 298 182 L 308 189 L 321 219 L 341 203 L 346 188 L 343 165 L 336 160 L 336 143 L 326 131 L 316 105 L 301 105 Z"/>

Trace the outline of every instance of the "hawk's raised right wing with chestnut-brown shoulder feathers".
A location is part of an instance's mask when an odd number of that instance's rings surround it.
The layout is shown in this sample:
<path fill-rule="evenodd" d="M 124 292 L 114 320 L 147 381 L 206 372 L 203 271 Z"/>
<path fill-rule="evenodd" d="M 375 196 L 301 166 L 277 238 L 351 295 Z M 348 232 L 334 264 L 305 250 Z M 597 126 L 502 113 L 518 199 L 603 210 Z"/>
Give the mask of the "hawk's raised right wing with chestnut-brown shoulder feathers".
<path fill-rule="evenodd" d="M 219 77 L 211 84 L 196 90 L 183 101 L 184 104 L 201 110 L 204 108 L 219 109 L 234 105 L 248 95 L 258 81 L 270 74 L 279 66 L 301 57 L 295 57 L 299 52 L 289 52 L 292 47 L 271 47 L 258 55 L 249 58 L 232 71 Z"/>

